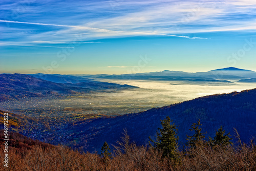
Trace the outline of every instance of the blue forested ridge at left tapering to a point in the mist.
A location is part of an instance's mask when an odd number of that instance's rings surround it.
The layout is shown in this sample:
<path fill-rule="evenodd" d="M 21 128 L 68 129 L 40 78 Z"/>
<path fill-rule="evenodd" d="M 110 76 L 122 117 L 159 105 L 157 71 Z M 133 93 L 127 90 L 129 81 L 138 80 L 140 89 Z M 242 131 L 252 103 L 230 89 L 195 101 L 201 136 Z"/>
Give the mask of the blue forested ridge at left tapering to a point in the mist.
<path fill-rule="evenodd" d="M 24 97 L 44 97 L 47 95 L 61 96 L 61 94 L 72 95 L 137 88 L 127 84 L 121 85 L 100 82 L 93 79 L 69 75 L 44 75 L 42 78 L 45 79 L 26 74 L 0 74 L 0 101 L 21 99 Z"/>

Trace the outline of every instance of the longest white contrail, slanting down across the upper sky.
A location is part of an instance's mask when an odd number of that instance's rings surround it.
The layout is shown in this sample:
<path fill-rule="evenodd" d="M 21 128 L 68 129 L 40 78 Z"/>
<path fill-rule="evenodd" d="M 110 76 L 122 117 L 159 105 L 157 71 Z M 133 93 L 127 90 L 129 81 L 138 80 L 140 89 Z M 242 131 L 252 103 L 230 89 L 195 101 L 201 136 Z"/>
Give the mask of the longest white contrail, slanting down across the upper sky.
<path fill-rule="evenodd" d="M 55 25 L 55 24 L 44 24 L 44 23 L 30 23 L 30 22 L 16 22 L 10 20 L 2 20 L 0 22 L 3 23 L 19 23 L 19 24 L 29 24 L 29 25 L 41 25 L 41 26 L 57 26 L 57 27 L 71 27 L 71 28 L 80 28 L 80 29 L 87 29 L 93 30 L 98 32 L 117 32 L 117 33 L 134 33 L 134 34 L 144 34 L 144 35 L 162 35 L 162 36 L 172 36 L 172 37 L 182 37 L 182 38 L 189 38 L 189 39 L 207 39 L 204 37 L 188 37 L 188 36 L 178 36 L 173 34 L 159 34 L 159 33 L 145 33 L 145 32 L 130 32 L 130 31 L 115 31 L 115 30 L 108 30 L 108 29 L 99 29 L 99 28 L 92 28 L 92 27 L 84 27 L 84 26 L 70 26 L 70 25 Z"/>

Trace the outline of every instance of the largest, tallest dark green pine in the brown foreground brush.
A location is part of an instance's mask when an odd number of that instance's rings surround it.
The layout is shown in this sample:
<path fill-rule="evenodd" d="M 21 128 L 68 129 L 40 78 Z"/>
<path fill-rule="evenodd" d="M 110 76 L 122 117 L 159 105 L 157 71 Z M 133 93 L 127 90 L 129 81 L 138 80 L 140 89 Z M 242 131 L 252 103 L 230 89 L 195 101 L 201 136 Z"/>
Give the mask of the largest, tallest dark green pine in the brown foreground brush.
<path fill-rule="evenodd" d="M 150 145 L 156 149 L 160 149 L 163 152 L 162 157 L 169 157 L 176 159 L 178 148 L 178 129 L 177 126 L 171 121 L 169 116 L 166 119 L 161 120 L 162 129 L 158 128 L 156 142 L 150 138 Z M 151 144 L 154 143 L 154 145 Z"/>

